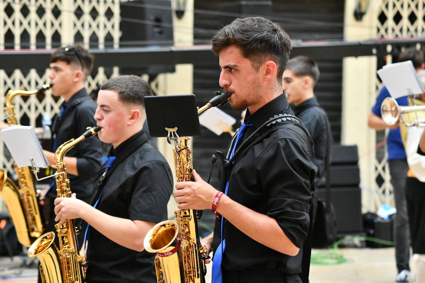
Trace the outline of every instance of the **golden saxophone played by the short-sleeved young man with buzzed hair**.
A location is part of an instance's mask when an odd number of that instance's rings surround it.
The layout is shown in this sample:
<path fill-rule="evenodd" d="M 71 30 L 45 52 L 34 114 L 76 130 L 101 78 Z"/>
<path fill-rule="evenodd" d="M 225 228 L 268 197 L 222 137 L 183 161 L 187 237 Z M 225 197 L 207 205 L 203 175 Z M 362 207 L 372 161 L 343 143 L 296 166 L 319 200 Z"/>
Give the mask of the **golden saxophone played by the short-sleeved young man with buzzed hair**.
<path fill-rule="evenodd" d="M 67 178 L 66 164 L 63 157 L 77 143 L 86 138 L 93 137 L 99 132 L 100 127 L 88 127 L 77 139 L 71 139 L 63 143 L 56 150 L 54 159 L 57 173 L 56 191 L 57 197 L 71 197 L 71 188 Z M 67 219 L 62 225 L 55 225 L 59 239 L 59 249 L 54 243 L 55 233 L 48 232 L 38 238 L 28 249 L 30 258 L 38 257 L 40 260 L 40 274 L 43 283 L 83 283 L 85 281 L 85 270 L 83 268 L 84 255 L 78 251 L 74 219 Z"/>

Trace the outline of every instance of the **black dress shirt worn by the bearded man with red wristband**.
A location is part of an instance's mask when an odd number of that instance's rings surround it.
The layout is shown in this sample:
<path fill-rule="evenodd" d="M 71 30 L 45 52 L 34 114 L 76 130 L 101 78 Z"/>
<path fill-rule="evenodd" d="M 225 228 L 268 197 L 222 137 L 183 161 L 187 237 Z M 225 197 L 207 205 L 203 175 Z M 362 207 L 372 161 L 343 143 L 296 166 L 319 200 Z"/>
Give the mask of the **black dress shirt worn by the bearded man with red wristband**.
<path fill-rule="evenodd" d="M 249 120 L 253 126 L 247 129 L 244 140 L 274 115 L 292 115 L 292 110 L 287 106 L 286 97 L 280 95 L 252 115 L 247 111 L 245 121 Z M 301 125 L 293 120 L 286 122 Z M 250 148 L 246 154 L 240 154 L 235 159 L 230 174 L 227 171 L 227 195 L 251 210 L 276 219 L 300 252 L 296 256 L 289 256 L 270 249 L 225 221 L 226 249 L 221 265 L 224 271 L 277 269 L 289 275 L 301 272 L 302 247 L 310 225 L 311 190 L 314 188 L 317 167 L 299 134 L 292 129 L 273 130 L 273 125 L 264 127 L 256 134 L 260 137 L 264 135 L 264 138 L 247 145 Z M 309 138 L 306 129 L 303 129 Z M 215 248 L 220 243 L 220 229 L 220 222 L 216 221 Z"/>

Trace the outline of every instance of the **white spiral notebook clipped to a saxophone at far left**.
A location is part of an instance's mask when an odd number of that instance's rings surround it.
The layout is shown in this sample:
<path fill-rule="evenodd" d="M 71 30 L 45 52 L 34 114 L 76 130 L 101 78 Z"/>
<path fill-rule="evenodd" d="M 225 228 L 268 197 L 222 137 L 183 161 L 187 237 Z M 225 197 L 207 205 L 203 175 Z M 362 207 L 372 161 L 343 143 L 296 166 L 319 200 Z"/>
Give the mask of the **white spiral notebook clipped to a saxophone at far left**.
<path fill-rule="evenodd" d="M 49 166 L 33 127 L 10 125 L 0 131 L 0 136 L 19 168 L 31 166 L 31 159 L 37 167 L 47 168 Z"/>

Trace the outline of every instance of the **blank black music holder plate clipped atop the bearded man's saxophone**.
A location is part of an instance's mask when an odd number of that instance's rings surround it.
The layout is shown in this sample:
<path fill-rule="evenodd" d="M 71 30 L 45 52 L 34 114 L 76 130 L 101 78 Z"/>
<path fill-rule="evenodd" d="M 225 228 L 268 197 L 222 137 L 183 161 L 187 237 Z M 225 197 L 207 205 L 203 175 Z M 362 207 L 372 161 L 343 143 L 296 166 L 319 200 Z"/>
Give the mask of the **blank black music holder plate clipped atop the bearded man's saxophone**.
<path fill-rule="evenodd" d="M 194 94 L 145 96 L 144 108 L 151 137 L 169 136 L 165 128 L 185 137 L 201 135 Z"/>

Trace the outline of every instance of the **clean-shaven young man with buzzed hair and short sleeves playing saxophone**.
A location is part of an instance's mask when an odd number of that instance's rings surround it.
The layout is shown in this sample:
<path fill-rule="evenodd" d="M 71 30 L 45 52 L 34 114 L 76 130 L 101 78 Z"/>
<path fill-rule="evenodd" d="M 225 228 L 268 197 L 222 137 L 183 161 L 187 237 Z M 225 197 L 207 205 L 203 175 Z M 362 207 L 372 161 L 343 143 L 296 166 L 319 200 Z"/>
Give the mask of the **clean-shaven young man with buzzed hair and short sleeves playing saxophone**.
<path fill-rule="evenodd" d="M 155 283 L 154 254 L 144 251 L 146 233 L 167 218 L 173 177 L 165 158 L 147 143 L 143 97 L 152 95 L 137 76 L 102 84 L 94 118 L 99 138 L 112 143 L 108 162 L 96 175 L 91 205 L 55 200 L 56 220 L 88 222 L 87 283 Z M 84 233 L 84 231 L 83 231 Z"/>

